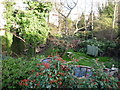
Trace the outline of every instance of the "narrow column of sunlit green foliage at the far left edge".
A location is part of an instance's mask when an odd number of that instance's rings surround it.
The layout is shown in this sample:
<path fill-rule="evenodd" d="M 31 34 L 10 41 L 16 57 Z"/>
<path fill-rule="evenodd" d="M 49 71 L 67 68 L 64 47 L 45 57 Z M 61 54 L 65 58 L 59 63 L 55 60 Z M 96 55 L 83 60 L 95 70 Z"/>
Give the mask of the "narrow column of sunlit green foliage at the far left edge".
<path fill-rule="evenodd" d="M 12 12 L 14 11 L 13 6 L 15 5 L 14 2 L 4 2 L 5 4 L 5 8 L 6 8 L 6 12 L 4 13 L 4 17 L 6 19 L 7 25 L 5 26 L 7 31 L 10 31 L 10 29 L 12 29 L 12 24 L 13 24 L 13 20 L 14 17 L 12 16 Z M 3 37 L 3 50 L 7 51 L 8 54 L 10 54 L 11 52 L 11 44 L 12 44 L 12 38 L 13 38 L 13 34 L 10 34 L 9 32 L 5 33 L 5 36 Z"/>

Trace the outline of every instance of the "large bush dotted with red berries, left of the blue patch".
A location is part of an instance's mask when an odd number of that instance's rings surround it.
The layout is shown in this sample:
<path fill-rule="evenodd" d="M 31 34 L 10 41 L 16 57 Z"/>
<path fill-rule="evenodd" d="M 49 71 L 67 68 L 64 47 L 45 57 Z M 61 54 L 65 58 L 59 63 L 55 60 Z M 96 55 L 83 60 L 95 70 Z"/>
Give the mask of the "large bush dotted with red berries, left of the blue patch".
<path fill-rule="evenodd" d="M 36 70 L 27 79 L 21 80 L 19 85 L 25 88 L 73 88 L 77 83 L 72 67 L 61 57 L 55 56 L 48 63 L 37 64 Z"/>

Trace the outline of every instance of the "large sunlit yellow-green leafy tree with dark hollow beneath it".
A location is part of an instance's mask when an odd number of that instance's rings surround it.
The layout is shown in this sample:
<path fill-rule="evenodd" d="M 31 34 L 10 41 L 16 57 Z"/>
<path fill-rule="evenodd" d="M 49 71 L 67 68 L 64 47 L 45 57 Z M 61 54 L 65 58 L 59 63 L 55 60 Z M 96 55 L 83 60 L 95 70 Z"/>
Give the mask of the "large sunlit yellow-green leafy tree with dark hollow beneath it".
<path fill-rule="evenodd" d="M 11 1 L 6 2 L 5 18 L 7 20 L 6 30 L 14 35 L 12 51 L 18 55 L 22 54 L 24 48 L 23 50 L 17 48 L 22 41 L 26 45 L 28 54 L 34 55 L 36 47 L 45 43 L 48 37 L 49 28 L 46 17 L 51 8 L 51 3 L 28 1 L 26 2 L 28 5 L 26 10 L 15 10 L 12 9 L 13 5 L 9 5 L 8 2 L 11 3 Z M 10 10 L 7 10 L 9 9 L 7 4 L 11 7 Z M 8 15 L 8 13 L 11 14 Z"/>

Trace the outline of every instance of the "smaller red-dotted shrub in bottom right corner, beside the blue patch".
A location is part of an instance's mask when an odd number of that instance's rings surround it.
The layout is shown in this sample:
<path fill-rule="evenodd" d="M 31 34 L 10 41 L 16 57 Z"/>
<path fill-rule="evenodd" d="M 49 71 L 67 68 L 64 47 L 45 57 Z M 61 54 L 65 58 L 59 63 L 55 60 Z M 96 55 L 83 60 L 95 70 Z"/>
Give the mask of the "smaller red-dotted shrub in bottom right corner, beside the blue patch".
<path fill-rule="evenodd" d="M 92 69 L 92 76 L 88 79 L 85 79 L 84 82 L 80 83 L 80 87 L 87 88 L 118 88 L 118 79 L 107 74 L 107 71 L 103 71 L 103 64 L 95 63 L 94 68 Z"/>

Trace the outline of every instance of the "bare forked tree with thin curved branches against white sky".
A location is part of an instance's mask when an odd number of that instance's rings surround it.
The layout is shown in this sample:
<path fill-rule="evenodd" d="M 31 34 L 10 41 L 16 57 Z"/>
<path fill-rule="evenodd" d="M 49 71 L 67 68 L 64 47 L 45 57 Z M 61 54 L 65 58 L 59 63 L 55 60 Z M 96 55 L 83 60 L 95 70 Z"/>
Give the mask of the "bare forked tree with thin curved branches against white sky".
<path fill-rule="evenodd" d="M 78 0 L 60 0 L 59 4 L 55 3 L 55 7 L 57 12 L 59 13 L 59 16 L 62 17 L 62 19 L 65 22 L 65 35 L 68 35 L 68 18 L 70 14 L 72 13 L 72 10 L 76 7 L 78 3 Z M 59 6 L 58 6 L 59 5 Z M 66 11 L 65 11 L 66 10 Z"/>

